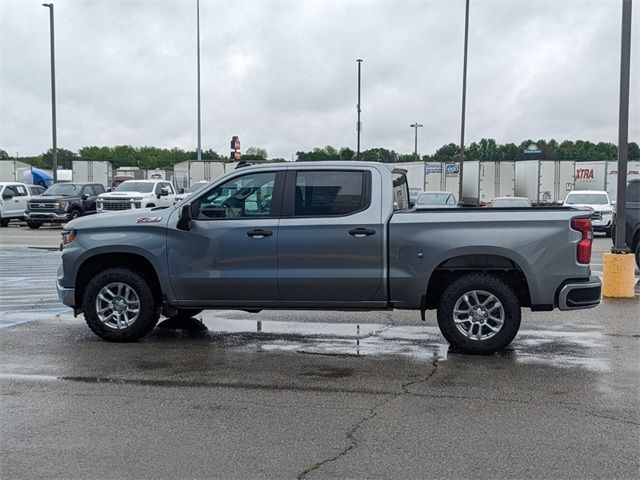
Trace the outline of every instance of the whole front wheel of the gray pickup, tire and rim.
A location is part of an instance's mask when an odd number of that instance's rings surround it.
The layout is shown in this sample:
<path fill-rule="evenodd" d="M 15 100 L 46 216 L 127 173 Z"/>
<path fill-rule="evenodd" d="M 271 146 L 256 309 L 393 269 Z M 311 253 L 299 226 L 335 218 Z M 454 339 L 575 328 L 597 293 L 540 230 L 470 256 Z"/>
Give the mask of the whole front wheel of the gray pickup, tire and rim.
<path fill-rule="evenodd" d="M 94 276 L 82 307 L 89 328 L 109 342 L 134 342 L 153 330 L 160 317 L 149 283 L 129 268 L 110 268 Z"/>

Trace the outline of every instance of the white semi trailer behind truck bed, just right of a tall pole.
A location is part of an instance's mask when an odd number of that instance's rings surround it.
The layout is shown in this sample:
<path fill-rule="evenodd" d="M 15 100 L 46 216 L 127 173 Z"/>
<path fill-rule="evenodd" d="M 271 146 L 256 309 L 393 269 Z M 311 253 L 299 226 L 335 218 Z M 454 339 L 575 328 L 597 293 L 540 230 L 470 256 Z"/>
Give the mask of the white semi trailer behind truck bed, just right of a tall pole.
<path fill-rule="evenodd" d="M 461 200 L 486 205 L 495 197 L 513 197 L 515 182 L 515 162 L 464 162 Z"/>

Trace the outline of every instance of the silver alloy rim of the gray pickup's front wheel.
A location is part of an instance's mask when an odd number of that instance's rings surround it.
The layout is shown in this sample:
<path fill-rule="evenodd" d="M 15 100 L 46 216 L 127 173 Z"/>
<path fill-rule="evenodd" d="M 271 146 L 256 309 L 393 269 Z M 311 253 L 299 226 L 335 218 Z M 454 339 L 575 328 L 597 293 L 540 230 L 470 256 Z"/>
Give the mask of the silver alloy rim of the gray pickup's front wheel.
<path fill-rule="evenodd" d="M 98 292 L 96 314 L 107 327 L 122 330 L 130 327 L 140 313 L 140 299 L 126 283 L 110 283 Z"/>

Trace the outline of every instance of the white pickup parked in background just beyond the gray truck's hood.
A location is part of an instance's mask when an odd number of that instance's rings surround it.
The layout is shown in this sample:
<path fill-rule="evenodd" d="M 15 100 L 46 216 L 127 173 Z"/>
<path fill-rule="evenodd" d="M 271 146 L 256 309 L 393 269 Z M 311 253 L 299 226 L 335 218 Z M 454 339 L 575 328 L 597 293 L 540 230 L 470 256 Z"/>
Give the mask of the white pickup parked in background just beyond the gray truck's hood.
<path fill-rule="evenodd" d="M 98 195 L 97 210 L 114 212 L 133 208 L 170 207 L 176 192 L 166 180 L 127 180 L 113 191 Z"/>

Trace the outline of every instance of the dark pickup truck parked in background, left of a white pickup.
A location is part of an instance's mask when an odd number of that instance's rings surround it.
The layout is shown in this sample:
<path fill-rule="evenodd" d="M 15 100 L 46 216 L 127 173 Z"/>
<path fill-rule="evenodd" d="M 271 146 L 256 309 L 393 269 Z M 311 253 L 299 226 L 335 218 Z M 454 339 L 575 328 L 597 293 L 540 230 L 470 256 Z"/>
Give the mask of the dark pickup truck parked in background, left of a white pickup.
<path fill-rule="evenodd" d="M 100 183 L 56 183 L 27 202 L 25 220 L 31 229 L 45 223 L 67 223 L 96 213 L 96 198 L 105 192 Z"/>

